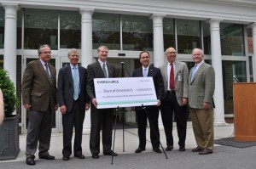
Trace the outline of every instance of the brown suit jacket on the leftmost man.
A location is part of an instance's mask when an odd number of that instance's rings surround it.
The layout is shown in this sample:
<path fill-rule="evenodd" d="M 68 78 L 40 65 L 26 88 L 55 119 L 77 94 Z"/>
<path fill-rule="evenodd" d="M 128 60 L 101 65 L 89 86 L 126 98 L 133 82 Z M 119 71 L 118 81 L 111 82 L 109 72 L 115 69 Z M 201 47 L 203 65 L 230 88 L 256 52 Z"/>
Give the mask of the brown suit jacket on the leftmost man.
<path fill-rule="evenodd" d="M 57 102 L 56 70 L 49 64 L 51 82 L 47 76 L 40 59 L 29 62 L 26 65 L 22 80 L 23 104 L 31 104 L 31 110 L 46 111 L 49 108 L 54 111 Z"/>

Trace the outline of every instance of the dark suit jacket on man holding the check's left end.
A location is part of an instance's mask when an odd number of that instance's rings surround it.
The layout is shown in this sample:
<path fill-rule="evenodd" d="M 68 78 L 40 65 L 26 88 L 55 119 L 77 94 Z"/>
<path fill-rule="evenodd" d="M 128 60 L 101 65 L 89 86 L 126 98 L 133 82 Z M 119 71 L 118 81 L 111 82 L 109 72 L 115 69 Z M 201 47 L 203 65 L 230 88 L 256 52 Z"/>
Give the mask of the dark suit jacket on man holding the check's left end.
<path fill-rule="evenodd" d="M 114 66 L 107 63 L 107 67 L 108 67 L 108 77 L 109 78 L 115 77 Z M 87 73 L 86 89 L 87 89 L 88 96 L 91 100 L 91 99 L 96 98 L 93 79 L 94 78 L 105 78 L 105 76 L 104 76 L 104 73 L 102 70 L 102 66 L 98 60 L 95 63 L 92 63 L 87 66 L 87 72 L 88 73 Z"/>

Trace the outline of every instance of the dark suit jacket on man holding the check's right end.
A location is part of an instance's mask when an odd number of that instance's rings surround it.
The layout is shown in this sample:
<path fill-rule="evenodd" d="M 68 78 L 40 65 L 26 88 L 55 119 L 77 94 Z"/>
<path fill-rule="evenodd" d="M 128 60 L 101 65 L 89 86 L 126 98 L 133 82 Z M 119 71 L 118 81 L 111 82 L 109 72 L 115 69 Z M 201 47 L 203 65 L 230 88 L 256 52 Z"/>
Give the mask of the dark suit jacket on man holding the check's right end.
<path fill-rule="evenodd" d="M 133 70 L 132 76 L 143 77 L 143 67 L 140 67 L 137 70 Z M 148 67 L 148 76 L 153 77 L 154 88 L 155 88 L 157 99 L 162 99 L 165 93 L 164 93 L 163 77 L 161 75 L 160 69 L 150 65 Z"/>

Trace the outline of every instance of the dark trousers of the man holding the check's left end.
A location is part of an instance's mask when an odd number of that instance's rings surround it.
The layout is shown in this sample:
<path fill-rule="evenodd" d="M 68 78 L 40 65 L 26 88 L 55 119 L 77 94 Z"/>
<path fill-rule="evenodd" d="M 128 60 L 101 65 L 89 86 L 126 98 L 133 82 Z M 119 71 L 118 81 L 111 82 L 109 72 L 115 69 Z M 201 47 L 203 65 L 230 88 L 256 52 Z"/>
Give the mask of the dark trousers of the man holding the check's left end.
<path fill-rule="evenodd" d="M 90 152 L 92 155 L 100 153 L 100 133 L 102 129 L 103 153 L 111 151 L 113 109 L 96 109 L 90 104 Z"/>

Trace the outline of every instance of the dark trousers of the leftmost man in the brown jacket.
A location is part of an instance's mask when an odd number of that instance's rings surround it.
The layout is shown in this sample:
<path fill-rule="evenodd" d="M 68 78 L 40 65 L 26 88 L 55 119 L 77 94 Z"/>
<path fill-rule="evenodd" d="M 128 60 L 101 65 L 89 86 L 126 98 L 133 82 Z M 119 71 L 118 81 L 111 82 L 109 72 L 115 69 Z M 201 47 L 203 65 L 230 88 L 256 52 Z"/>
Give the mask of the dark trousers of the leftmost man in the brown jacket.
<path fill-rule="evenodd" d="M 49 155 L 49 143 L 52 125 L 52 112 L 29 111 L 29 120 L 26 134 L 26 156 L 35 157 L 37 149 L 38 155 Z M 39 142 L 39 146 L 38 146 Z"/>

